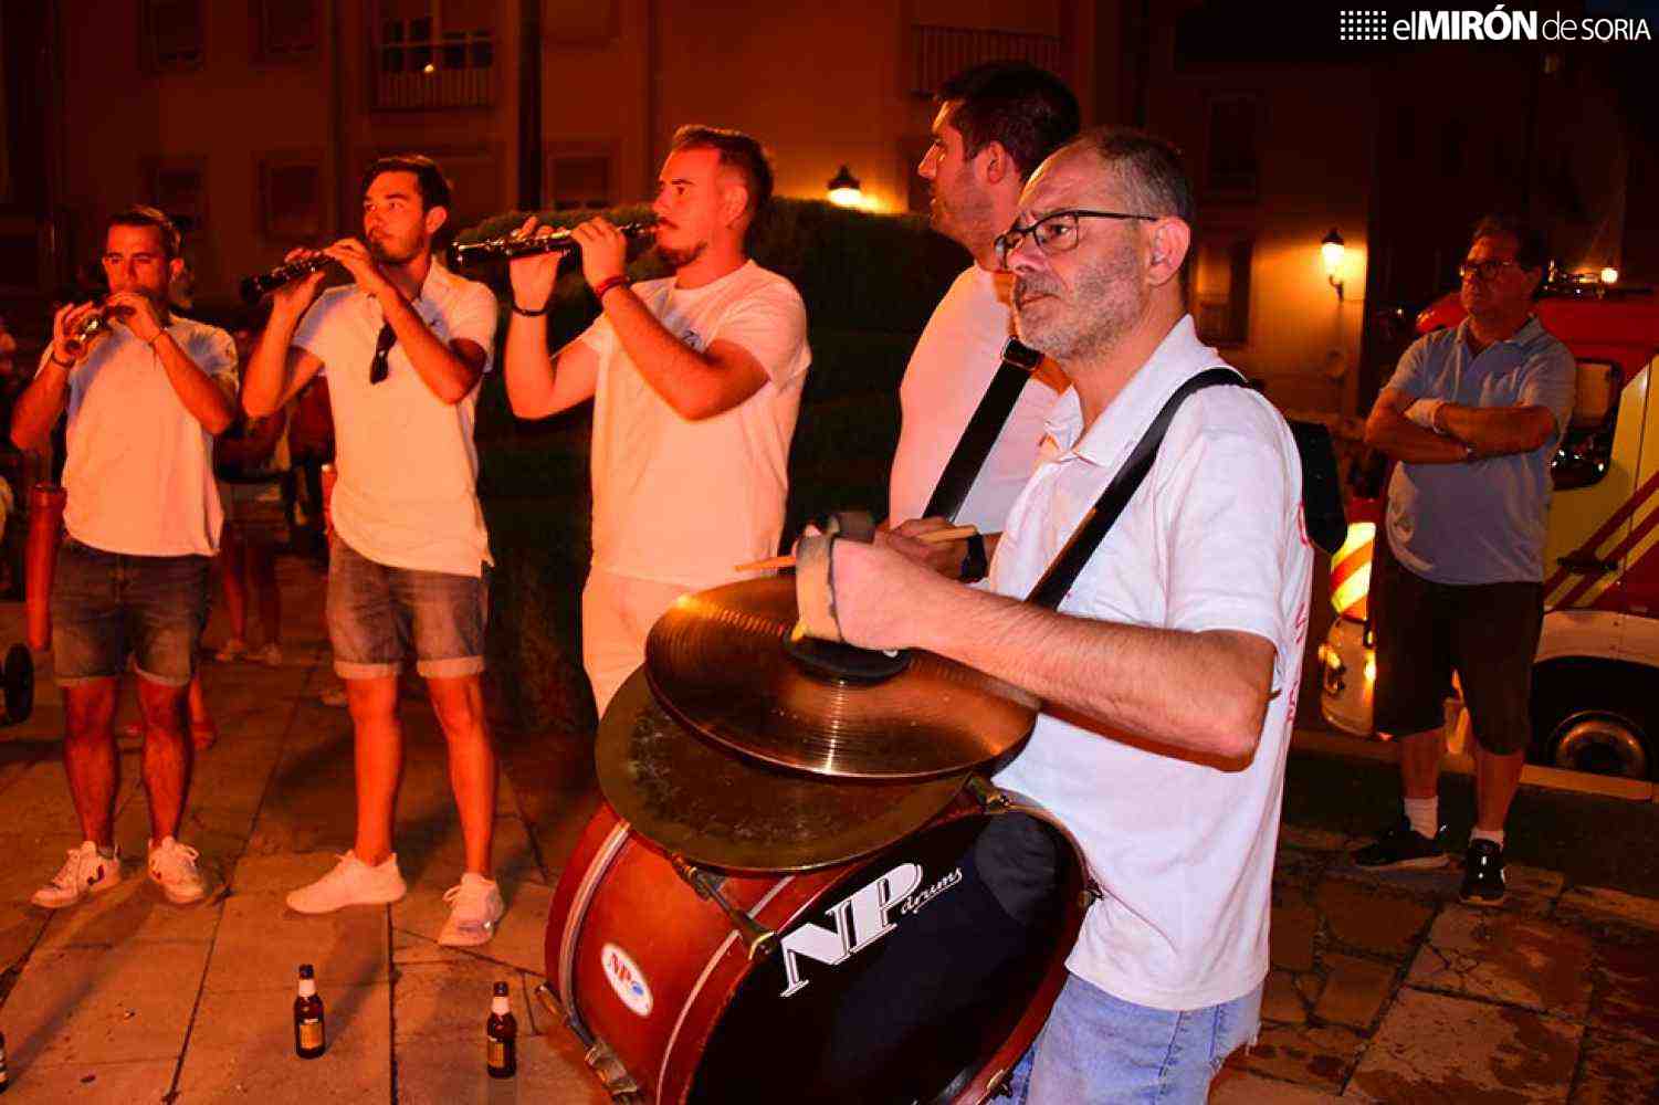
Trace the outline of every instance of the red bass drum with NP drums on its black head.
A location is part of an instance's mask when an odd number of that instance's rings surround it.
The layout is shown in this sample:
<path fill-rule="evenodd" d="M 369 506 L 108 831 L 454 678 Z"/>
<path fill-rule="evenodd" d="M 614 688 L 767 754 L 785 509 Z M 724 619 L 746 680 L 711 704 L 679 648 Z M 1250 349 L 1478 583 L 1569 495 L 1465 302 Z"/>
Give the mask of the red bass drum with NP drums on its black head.
<path fill-rule="evenodd" d="M 547 977 L 619 1095 L 966 1105 L 1037 1037 L 1092 891 L 1070 835 L 980 780 L 805 874 L 687 868 L 606 805 L 554 891 Z"/>

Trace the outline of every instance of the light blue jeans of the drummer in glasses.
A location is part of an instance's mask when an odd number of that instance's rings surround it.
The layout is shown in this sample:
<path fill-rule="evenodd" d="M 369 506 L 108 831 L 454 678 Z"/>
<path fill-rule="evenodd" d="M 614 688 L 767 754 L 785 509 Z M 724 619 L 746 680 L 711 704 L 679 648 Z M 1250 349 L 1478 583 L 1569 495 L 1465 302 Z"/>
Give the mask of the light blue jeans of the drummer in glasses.
<path fill-rule="evenodd" d="M 1226 1057 L 1256 1039 L 1261 991 L 1170 1012 L 1068 976 L 1042 1034 L 1014 1067 L 1014 1105 L 1204 1105 Z"/>

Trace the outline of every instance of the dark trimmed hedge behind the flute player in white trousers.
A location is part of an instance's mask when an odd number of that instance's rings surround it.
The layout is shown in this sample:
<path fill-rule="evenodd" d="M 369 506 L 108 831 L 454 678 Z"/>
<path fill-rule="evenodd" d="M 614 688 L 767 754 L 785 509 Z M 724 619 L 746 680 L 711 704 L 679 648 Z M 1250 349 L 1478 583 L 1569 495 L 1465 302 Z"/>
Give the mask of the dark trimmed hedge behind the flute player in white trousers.
<path fill-rule="evenodd" d="M 619 207 L 606 217 L 620 224 L 647 214 L 645 207 Z M 586 212 L 539 217 L 572 226 Z M 498 237 L 523 221 L 524 212 L 494 216 L 460 241 Z M 813 350 L 790 448 L 783 544 L 806 519 L 834 509 L 883 518 L 899 436 L 899 380 L 922 325 L 969 257 L 917 216 L 873 216 L 803 199 L 773 204 L 755 227 L 752 254 L 800 290 Z M 650 254 L 629 265 L 634 279 L 665 274 Z M 496 290 L 504 329 L 506 267 L 469 275 Z M 569 264 L 547 312 L 549 348 L 581 333 L 597 314 L 579 267 Z M 478 486 L 496 559 L 489 667 L 514 723 L 524 728 L 594 725 L 581 662 L 591 435 L 591 405 L 526 423 L 513 416 L 501 373 L 486 378 L 478 403 Z"/>

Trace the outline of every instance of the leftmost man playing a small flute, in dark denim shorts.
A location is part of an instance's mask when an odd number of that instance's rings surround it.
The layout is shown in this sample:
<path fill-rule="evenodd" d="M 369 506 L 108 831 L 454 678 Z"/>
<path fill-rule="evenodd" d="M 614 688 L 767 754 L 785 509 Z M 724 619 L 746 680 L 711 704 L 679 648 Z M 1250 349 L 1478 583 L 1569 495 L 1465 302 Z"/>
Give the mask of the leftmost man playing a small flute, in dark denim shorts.
<path fill-rule="evenodd" d="M 129 657 L 144 718 L 149 878 L 176 904 L 204 894 L 196 849 L 174 835 L 191 776 L 184 697 L 224 523 L 212 440 L 236 415 L 236 345 L 224 330 L 168 312 L 168 287 L 182 265 L 179 232 L 164 214 L 133 207 L 114 216 L 103 254 L 114 325 L 81 343 L 73 335 L 100 307 L 60 310 L 12 416 L 12 440 L 32 450 L 65 405 L 70 411 L 66 536 L 51 621 L 66 713 L 63 767 L 85 843 L 35 891 L 46 909 L 121 879 L 113 830 L 121 760 L 111 722 Z"/>

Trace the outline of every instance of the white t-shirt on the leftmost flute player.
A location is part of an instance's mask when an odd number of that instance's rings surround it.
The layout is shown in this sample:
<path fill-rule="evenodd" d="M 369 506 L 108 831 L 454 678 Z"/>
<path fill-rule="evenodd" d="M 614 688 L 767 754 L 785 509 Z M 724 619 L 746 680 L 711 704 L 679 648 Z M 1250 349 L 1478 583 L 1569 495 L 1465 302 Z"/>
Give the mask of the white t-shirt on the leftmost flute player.
<path fill-rule="evenodd" d="M 196 367 L 236 395 L 236 342 L 174 317 L 168 333 Z M 41 367 L 51 348 L 41 355 Z M 214 556 L 224 509 L 212 479 L 212 435 L 168 382 L 161 355 L 111 327 L 70 373 L 63 526 L 105 552 Z"/>

